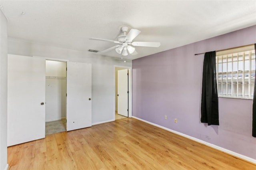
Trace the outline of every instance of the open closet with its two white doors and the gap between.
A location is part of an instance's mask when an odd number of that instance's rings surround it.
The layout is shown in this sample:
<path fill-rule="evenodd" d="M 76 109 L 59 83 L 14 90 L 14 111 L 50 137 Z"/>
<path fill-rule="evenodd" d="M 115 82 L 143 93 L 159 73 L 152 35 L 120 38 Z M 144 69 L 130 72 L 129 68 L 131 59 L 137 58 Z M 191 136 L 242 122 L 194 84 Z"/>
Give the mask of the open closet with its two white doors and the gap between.
<path fill-rule="evenodd" d="M 8 54 L 7 146 L 92 126 L 92 64 L 56 60 Z"/>

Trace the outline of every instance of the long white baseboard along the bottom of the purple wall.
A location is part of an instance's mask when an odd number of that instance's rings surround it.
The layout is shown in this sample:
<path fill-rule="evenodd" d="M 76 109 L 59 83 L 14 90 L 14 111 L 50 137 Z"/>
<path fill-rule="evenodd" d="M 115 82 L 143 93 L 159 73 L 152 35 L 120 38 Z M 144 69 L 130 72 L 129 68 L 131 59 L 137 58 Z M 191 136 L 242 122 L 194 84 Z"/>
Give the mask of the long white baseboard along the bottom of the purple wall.
<path fill-rule="evenodd" d="M 180 135 L 180 136 L 183 136 L 183 137 L 185 137 L 185 138 L 189 138 L 189 139 L 194 140 L 194 141 L 196 141 L 196 142 L 198 142 L 198 143 L 205 144 L 205 145 L 210 146 L 210 147 L 212 147 L 212 148 L 214 148 L 214 149 L 220 150 L 220 151 L 225 152 L 225 153 L 227 153 L 227 154 L 236 156 L 236 157 L 238 157 L 238 158 L 241 158 L 241 159 L 243 159 L 243 160 L 246 160 L 246 161 L 248 161 L 248 162 L 252 162 L 252 163 L 256 164 L 256 159 L 250 158 L 250 157 L 248 157 L 248 156 L 244 156 L 244 155 L 242 155 L 242 154 L 238 154 L 238 153 L 236 153 L 236 152 L 233 152 L 233 151 L 231 151 L 231 150 L 222 148 L 222 147 L 217 146 L 217 145 L 215 145 L 215 144 L 211 144 L 211 143 L 205 142 L 204 140 L 200 140 L 200 139 L 198 139 L 198 138 L 194 138 L 194 137 L 192 137 L 192 136 L 188 136 L 188 135 L 186 135 L 186 134 L 177 132 L 177 131 L 175 131 L 175 130 L 172 130 L 172 129 L 169 129 L 169 128 L 166 128 L 166 127 L 162 127 L 162 126 L 160 126 L 160 125 L 157 125 L 157 124 L 155 124 L 155 123 L 151 123 L 151 122 L 145 121 L 145 120 L 140 119 L 140 118 L 138 118 L 138 117 L 132 116 L 132 118 L 138 119 L 138 120 L 140 120 L 140 121 L 146 122 L 146 123 L 148 123 L 148 124 L 150 124 L 150 125 L 153 125 L 153 126 L 162 128 L 162 129 L 164 129 L 164 130 L 168 130 L 168 131 L 170 131 L 170 132 L 173 132 L 173 133 L 178 134 L 178 135 Z"/>

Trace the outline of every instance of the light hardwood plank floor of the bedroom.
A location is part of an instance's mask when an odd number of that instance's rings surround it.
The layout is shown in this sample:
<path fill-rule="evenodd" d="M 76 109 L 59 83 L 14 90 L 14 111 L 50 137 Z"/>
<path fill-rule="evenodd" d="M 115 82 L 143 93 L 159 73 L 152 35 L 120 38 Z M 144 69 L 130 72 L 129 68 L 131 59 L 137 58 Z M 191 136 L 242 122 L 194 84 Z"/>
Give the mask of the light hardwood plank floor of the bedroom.
<path fill-rule="evenodd" d="M 133 118 L 8 147 L 10 170 L 254 170 L 256 165 Z"/>

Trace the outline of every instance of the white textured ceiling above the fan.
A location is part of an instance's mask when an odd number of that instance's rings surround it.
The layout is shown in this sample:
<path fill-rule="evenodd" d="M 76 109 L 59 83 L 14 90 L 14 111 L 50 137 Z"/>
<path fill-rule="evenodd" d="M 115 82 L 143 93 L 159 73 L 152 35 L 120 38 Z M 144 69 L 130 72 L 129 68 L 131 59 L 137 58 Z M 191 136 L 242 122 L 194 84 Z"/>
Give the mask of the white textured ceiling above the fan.
<path fill-rule="evenodd" d="M 8 36 L 27 42 L 103 51 L 116 44 L 89 38 L 116 40 L 121 26 L 128 26 L 141 31 L 134 41 L 161 43 L 158 48 L 136 47 L 138 54 L 127 59 L 256 25 L 256 0 L 0 0 L 0 5 Z M 115 50 L 97 54 L 122 57 Z"/>

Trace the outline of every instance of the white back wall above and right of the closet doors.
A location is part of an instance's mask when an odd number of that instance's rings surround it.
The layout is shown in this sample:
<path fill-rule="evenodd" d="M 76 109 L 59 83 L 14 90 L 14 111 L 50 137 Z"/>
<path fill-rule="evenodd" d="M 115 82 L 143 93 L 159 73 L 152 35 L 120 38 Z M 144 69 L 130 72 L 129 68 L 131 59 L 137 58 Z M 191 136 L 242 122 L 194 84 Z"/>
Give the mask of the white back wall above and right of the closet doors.
<path fill-rule="evenodd" d="M 68 59 L 73 62 L 92 63 L 92 124 L 113 121 L 115 110 L 114 65 L 132 67 L 132 62 L 121 58 L 107 57 L 88 51 L 76 51 L 59 47 L 28 43 L 9 38 L 8 53 Z"/>

